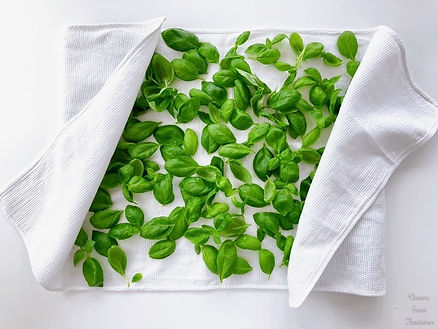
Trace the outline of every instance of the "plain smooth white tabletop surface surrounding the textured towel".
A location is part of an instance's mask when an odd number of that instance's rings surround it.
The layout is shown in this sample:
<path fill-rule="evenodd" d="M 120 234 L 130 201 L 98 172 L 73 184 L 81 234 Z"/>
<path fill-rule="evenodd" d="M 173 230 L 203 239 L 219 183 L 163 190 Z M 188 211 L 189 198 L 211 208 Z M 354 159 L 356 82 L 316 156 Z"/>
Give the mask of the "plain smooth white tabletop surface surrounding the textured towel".
<path fill-rule="evenodd" d="M 3 0 L 0 186 L 29 166 L 60 128 L 63 26 L 160 15 L 167 17 L 165 27 L 208 29 L 385 24 L 404 40 L 414 81 L 438 99 L 438 1 Z M 312 293 L 301 308 L 291 310 L 285 291 L 47 292 L 32 276 L 18 233 L 0 218 L 0 329 L 438 328 L 437 163 L 435 136 L 388 183 L 385 297 Z M 430 300 L 410 301 L 409 293 Z M 407 325 L 407 318 L 434 325 Z"/>

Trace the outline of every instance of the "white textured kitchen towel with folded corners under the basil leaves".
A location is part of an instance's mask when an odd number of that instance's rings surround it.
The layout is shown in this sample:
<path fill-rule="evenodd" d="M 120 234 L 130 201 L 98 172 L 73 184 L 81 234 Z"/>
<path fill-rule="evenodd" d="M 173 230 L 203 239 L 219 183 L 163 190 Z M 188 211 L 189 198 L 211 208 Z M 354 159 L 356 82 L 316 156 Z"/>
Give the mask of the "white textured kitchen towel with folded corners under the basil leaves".
<path fill-rule="evenodd" d="M 134 103 L 150 58 L 157 48 L 171 59 L 179 53 L 159 38 L 162 18 L 140 24 L 76 26 L 67 29 L 65 44 L 65 127 L 49 150 L 26 173 L 0 194 L 0 204 L 26 244 L 36 279 L 47 289 L 89 289 L 80 268 L 71 263 L 74 239 L 93 200 Z M 238 32 L 194 31 L 221 53 L 232 47 Z M 282 31 L 290 32 L 290 31 Z M 321 41 L 336 51 L 340 31 L 298 31 L 305 42 Z M 251 42 L 274 36 L 275 29 L 256 30 Z M 288 270 L 276 268 L 271 278 L 258 270 L 254 252 L 243 253 L 254 270 L 219 284 L 202 258 L 186 240 L 165 260 L 151 260 L 141 238 L 121 241 L 128 255 L 128 275 L 142 272 L 144 279 L 129 290 L 199 290 L 213 288 L 270 288 L 290 291 L 290 305 L 299 306 L 313 290 L 366 296 L 385 292 L 383 187 L 400 161 L 435 132 L 437 105 L 416 88 L 407 72 L 404 49 L 386 27 L 355 31 L 362 63 L 352 80 L 339 117 L 321 159 L 303 210 Z M 284 49 L 283 49 L 284 48 Z M 293 56 L 287 44 L 282 54 Z M 289 51 L 289 53 L 288 53 Z M 269 86 L 281 85 L 285 76 L 269 66 L 253 63 L 254 72 Z M 343 73 L 310 61 L 323 76 Z M 215 65 L 211 65 L 215 71 Z M 207 77 L 207 80 L 210 76 Z M 182 92 L 200 82 L 177 84 Z M 339 82 L 343 90 L 349 81 Z M 164 114 L 165 115 L 165 114 Z M 163 113 L 145 118 L 163 121 Z M 169 123 L 174 119 L 168 116 Z M 197 132 L 199 121 L 186 126 Z M 238 141 L 246 132 L 236 133 Z M 325 139 L 328 134 L 325 134 Z M 323 143 L 324 139 L 320 143 Z M 291 142 L 297 148 L 299 142 Z M 160 156 L 154 158 L 160 162 Z M 205 152 L 196 160 L 207 164 Z M 246 160 L 248 165 L 252 159 Z M 162 162 L 161 162 L 162 163 Z M 305 177 L 303 169 L 302 178 Z M 307 168 L 307 170 L 309 170 Z M 257 178 L 254 181 L 261 184 Z M 174 181 L 175 201 L 161 206 L 150 194 L 136 196 L 146 218 L 167 215 L 182 205 Z M 114 208 L 126 202 L 112 195 Z M 246 220 L 252 222 L 254 209 Z M 249 228 L 255 232 L 255 225 Z M 84 227 L 90 231 L 88 221 Z M 276 251 L 274 241 L 264 246 Z M 277 259 L 281 255 L 276 252 Z M 102 260 L 105 287 L 127 290 L 125 282 Z M 279 262 L 277 262 L 279 263 Z"/>

